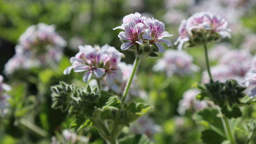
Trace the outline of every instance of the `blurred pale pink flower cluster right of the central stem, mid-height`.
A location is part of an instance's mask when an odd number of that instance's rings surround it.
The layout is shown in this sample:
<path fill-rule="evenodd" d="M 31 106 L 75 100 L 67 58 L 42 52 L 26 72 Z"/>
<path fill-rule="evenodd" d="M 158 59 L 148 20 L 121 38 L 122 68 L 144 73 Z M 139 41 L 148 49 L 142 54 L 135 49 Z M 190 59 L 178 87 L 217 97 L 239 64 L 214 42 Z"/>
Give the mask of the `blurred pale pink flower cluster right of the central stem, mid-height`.
<path fill-rule="evenodd" d="M 199 71 L 199 67 L 192 64 L 193 57 L 185 51 L 166 50 L 163 58 L 157 60 L 153 71 L 165 71 L 168 76 L 174 73 L 184 76 Z"/>

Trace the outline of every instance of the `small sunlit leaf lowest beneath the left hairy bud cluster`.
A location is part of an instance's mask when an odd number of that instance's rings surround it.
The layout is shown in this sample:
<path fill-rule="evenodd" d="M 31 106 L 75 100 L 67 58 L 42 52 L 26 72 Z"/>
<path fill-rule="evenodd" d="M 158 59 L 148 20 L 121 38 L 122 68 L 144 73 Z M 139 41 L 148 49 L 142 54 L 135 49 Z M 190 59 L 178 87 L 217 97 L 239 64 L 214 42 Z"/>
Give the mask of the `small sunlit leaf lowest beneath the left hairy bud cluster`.
<path fill-rule="evenodd" d="M 73 132 L 78 132 L 81 129 L 92 126 L 92 121 L 85 118 L 83 115 L 76 116 L 75 121 L 69 125 L 69 129 Z"/>

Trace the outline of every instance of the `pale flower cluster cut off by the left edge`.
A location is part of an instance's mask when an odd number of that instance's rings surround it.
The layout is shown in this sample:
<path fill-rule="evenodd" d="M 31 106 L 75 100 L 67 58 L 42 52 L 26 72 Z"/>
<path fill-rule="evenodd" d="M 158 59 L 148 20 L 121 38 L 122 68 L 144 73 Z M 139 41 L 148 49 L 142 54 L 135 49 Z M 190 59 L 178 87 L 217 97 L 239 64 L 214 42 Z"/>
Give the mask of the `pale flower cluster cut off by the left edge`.
<path fill-rule="evenodd" d="M 7 100 L 10 96 L 6 93 L 11 90 L 11 87 L 5 83 L 3 83 L 4 77 L 0 75 L 0 114 L 5 114 L 7 111 L 7 107 L 10 106 Z"/>

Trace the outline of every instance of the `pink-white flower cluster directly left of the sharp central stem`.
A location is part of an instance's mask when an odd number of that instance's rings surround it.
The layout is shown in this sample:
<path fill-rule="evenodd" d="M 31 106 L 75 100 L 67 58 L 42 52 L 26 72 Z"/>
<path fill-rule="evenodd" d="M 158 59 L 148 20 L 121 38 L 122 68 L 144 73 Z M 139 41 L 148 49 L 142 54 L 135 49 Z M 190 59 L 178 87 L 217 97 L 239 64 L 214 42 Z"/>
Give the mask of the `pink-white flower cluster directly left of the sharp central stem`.
<path fill-rule="evenodd" d="M 108 86 L 114 84 L 114 80 L 122 81 L 122 72 L 118 64 L 124 54 L 109 45 L 92 47 L 91 45 L 78 46 L 79 52 L 70 58 L 72 66 L 64 70 L 67 75 L 74 69 L 74 72 L 85 72 L 83 81 L 88 82 L 91 77 L 102 78 Z"/>

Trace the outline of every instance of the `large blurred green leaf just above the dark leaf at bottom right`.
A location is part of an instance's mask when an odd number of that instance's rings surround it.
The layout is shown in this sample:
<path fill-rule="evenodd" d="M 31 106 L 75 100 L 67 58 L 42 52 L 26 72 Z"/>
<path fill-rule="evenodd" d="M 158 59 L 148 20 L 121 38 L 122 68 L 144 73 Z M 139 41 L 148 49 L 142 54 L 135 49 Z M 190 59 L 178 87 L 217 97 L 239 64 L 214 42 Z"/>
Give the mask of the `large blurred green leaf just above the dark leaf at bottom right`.
<path fill-rule="evenodd" d="M 204 108 L 199 110 L 197 113 L 193 115 L 193 119 L 206 128 L 210 128 L 217 132 L 219 135 L 225 137 L 225 130 L 222 124 L 221 118 L 217 115 L 219 114 L 219 110 L 215 108 Z"/>

